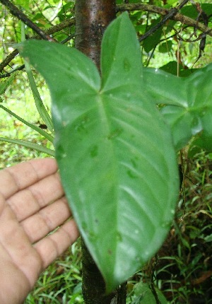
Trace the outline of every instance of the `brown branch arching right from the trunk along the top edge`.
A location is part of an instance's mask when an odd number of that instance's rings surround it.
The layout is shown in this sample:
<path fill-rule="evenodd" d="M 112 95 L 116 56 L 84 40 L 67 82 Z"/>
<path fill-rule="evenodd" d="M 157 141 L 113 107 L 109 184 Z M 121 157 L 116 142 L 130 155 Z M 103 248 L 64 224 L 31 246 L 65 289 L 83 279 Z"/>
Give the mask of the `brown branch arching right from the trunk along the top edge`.
<path fill-rule="evenodd" d="M 150 4 L 121 4 L 117 6 L 117 12 L 119 11 L 149 11 L 151 13 L 158 13 L 158 15 L 161 16 L 166 16 L 168 13 L 170 13 L 170 9 L 161 8 Z M 203 23 L 197 22 L 192 18 L 177 13 L 175 16 L 173 16 L 170 19 L 175 21 L 180 21 L 182 24 L 187 24 L 189 26 L 195 27 L 198 30 L 201 30 L 201 32 L 212 37 L 211 28 L 208 28 Z"/>

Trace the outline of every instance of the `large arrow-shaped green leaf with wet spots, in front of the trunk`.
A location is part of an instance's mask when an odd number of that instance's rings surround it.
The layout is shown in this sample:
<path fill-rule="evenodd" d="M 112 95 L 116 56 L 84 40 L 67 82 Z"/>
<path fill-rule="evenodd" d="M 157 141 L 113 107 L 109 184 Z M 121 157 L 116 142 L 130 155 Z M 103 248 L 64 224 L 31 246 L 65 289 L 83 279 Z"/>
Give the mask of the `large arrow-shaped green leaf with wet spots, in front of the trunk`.
<path fill-rule="evenodd" d="M 136 33 L 126 13 L 107 28 L 102 84 L 76 49 L 31 41 L 19 50 L 49 85 L 61 180 L 112 291 L 162 244 L 179 187 L 170 129 L 142 88 Z"/>

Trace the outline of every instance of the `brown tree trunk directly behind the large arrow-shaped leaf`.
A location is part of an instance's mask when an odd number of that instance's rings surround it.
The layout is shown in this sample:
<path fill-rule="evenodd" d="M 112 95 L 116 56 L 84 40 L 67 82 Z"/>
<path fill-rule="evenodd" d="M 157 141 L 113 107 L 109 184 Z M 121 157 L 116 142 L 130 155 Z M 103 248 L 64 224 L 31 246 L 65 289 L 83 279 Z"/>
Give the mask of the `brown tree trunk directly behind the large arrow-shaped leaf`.
<path fill-rule="evenodd" d="M 107 25 L 115 18 L 114 0 L 76 1 L 75 46 L 98 66 L 102 35 Z M 105 295 L 105 281 L 82 240 L 83 298 L 85 304 L 125 304 L 126 284 L 114 293 Z"/>

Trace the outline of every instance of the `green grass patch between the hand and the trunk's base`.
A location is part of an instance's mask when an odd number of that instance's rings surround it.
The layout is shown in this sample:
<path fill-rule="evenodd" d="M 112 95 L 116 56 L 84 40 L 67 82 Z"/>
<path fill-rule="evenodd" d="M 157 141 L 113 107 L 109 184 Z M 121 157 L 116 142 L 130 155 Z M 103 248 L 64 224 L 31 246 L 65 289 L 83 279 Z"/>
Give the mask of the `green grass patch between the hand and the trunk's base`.
<path fill-rule="evenodd" d="M 34 303 L 83 303 L 80 240 L 42 273 L 25 300 L 25 304 Z"/>

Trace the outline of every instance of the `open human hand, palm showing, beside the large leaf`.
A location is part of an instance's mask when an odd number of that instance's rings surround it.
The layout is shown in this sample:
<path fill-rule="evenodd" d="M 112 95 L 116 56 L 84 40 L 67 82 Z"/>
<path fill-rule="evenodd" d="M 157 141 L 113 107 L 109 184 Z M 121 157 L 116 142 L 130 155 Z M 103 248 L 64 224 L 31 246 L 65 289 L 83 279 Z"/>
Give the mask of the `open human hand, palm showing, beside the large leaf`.
<path fill-rule="evenodd" d="M 53 158 L 0 172 L 1 304 L 23 303 L 40 273 L 76 241 L 70 216 Z"/>

